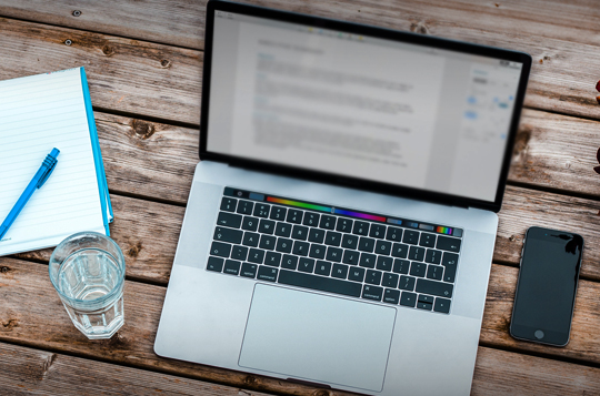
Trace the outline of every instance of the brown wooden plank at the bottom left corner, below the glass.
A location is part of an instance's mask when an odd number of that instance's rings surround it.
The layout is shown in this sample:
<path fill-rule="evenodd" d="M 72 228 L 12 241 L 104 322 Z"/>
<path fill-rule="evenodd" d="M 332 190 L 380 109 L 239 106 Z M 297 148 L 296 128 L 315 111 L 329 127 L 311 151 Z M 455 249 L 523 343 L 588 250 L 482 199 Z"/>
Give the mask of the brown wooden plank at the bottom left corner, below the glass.
<path fill-rule="evenodd" d="M 3 343 L 0 362 L 2 395 L 266 395 Z"/>

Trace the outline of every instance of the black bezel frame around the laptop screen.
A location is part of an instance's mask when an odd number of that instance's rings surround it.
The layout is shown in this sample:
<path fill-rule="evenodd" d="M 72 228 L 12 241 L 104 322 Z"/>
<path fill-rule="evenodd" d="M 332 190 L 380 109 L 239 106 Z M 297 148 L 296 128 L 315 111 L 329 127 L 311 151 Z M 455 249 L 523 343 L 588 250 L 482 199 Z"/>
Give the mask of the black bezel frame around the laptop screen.
<path fill-rule="evenodd" d="M 438 49 L 452 50 L 463 52 L 468 54 L 477 54 L 483 57 L 490 57 L 500 60 L 521 62 L 523 64 L 521 70 L 521 77 L 514 98 L 514 109 L 510 128 L 508 132 L 506 152 L 503 155 L 502 166 L 500 171 L 500 177 L 498 180 L 498 189 L 496 199 L 493 202 L 477 200 L 472 197 L 446 194 L 440 192 L 433 192 L 429 190 L 414 189 L 409 186 L 401 186 L 397 184 L 388 184 L 381 182 L 374 182 L 370 180 L 363 180 L 358 177 L 350 177 L 339 174 L 332 174 L 327 172 L 318 172 L 308 169 L 294 167 L 284 164 L 250 160 L 233 155 L 227 155 L 217 152 L 210 152 L 207 148 L 208 142 L 208 125 L 209 125 L 209 105 L 210 105 L 210 79 L 212 67 L 212 39 L 214 27 L 216 11 L 242 13 L 252 17 L 261 17 L 268 19 L 274 19 L 284 22 L 300 23 L 322 29 L 337 30 L 341 32 L 349 32 L 361 35 L 371 35 L 381 39 L 396 40 L 401 42 L 428 45 Z M 318 181 L 330 184 L 338 184 L 343 186 L 350 186 L 354 189 L 361 189 L 372 192 L 380 192 L 386 194 L 393 194 L 398 196 L 409 197 L 413 200 L 430 201 L 434 203 L 441 203 L 452 206 L 462 207 L 477 207 L 482 210 L 489 210 L 499 212 L 502 205 L 502 199 L 504 195 L 504 189 L 507 184 L 510 160 L 519 126 L 519 120 L 521 116 L 522 104 L 524 100 L 524 93 L 527 90 L 527 83 L 529 73 L 531 70 L 531 55 L 524 52 L 504 50 L 493 47 L 453 41 L 448 39 L 436 38 L 431 35 L 416 34 L 410 32 L 397 31 L 391 29 L 378 28 L 366 24 L 358 24 L 353 22 L 344 22 L 333 19 L 327 19 L 321 17 L 313 17 L 308 14 L 300 14 L 289 11 L 281 11 L 274 9 L 268 9 L 263 7 L 240 4 L 222 0 L 210 0 L 207 4 L 206 16 L 206 31 L 204 31 L 204 57 L 203 57 L 203 74 L 202 74 L 202 95 L 201 95 L 201 113 L 200 113 L 200 144 L 199 155 L 200 160 L 209 160 L 217 162 L 224 162 L 232 166 L 252 169 L 257 171 L 270 172 L 276 174 L 283 174 L 287 176 L 302 177 L 311 181 Z"/>

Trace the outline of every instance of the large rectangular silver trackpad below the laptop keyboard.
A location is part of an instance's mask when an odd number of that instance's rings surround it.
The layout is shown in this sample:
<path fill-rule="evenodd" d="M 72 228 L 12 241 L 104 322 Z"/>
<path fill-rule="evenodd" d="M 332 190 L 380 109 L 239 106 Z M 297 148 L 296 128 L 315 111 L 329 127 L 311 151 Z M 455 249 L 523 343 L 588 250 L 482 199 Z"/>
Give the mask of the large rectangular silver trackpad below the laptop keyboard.
<path fill-rule="evenodd" d="M 381 392 L 396 309 L 257 284 L 239 365 Z"/>

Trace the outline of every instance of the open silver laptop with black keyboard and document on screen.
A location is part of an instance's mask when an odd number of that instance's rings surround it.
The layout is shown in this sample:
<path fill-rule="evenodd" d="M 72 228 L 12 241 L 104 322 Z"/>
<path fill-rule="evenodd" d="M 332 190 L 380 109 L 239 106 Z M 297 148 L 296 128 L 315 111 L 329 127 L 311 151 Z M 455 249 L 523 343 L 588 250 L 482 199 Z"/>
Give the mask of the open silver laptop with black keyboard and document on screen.
<path fill-rule="evenodd" d="M 468 395 L 531 58 L 226 1 L 206 18 L 156 353 Z"/>

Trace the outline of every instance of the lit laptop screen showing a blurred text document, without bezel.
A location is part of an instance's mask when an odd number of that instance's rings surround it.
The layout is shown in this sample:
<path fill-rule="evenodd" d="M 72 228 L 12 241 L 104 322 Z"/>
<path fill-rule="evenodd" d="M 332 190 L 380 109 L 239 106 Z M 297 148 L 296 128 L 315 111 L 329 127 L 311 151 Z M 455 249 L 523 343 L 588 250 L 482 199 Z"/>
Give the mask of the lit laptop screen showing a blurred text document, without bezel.
<path fill-rule="evenodd" d="M 219 10 L 212 34 L 209 152 L 497 199 L 523 63 Z"/>

